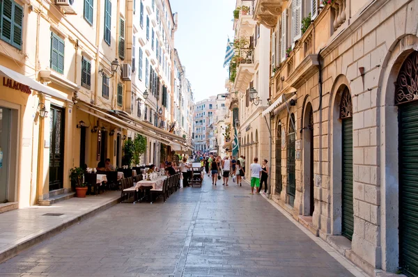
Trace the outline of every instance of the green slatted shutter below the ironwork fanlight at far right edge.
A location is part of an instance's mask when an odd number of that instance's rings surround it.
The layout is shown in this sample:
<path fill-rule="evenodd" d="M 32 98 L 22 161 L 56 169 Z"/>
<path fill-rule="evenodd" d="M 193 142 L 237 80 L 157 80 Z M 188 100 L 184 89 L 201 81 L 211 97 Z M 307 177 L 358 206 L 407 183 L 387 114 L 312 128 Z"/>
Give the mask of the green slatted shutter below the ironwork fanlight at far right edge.
<path fill-rule="evenodd" d="M 418 276 L 418 102 L 399 106 L 400 267 Z"/>

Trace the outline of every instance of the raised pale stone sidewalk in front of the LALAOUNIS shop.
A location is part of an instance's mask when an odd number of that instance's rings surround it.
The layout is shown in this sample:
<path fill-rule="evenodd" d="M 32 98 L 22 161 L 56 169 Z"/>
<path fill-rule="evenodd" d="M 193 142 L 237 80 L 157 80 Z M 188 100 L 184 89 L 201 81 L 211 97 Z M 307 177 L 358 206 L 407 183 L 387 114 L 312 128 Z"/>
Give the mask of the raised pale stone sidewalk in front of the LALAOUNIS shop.
<path fill-rule="evenodd" d="M 33 206 L 0 214 L 0 262 L 118 203 L 120 191 L 70 198 L 52 206 Z M 1 270 L 0 270 L 1 273 Z"/>

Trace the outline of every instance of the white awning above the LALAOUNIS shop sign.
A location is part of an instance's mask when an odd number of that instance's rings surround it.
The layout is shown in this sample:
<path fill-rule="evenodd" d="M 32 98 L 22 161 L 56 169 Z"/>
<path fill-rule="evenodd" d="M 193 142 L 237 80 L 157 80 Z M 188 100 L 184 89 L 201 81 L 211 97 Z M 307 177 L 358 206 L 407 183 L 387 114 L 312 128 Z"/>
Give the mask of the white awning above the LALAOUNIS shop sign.
<path fill-rule="evenodd" d="M 58 93 L 52 90 L 51 88 L 48 88 L 47 86 L 40 84 L 40 82 L 35 81 L 31 79 L 30 77 L 24 76 L 20 73 L 17 73 L 14 70 L 10 70 L 9 68 L 4 67 L 3 65 L 0 65 L 0 76 L 13 79 L 14 81 L 17 81 L 21 84 L 29 86 L 29 88 L 33 90 L 36 90 L 40 93 L 45 93 L 59 100 L 67 100 L 65 93 L 62 93 L 62 94 Z M 3 84 L 4 84 L 4 81 L 3 81 Z"/>

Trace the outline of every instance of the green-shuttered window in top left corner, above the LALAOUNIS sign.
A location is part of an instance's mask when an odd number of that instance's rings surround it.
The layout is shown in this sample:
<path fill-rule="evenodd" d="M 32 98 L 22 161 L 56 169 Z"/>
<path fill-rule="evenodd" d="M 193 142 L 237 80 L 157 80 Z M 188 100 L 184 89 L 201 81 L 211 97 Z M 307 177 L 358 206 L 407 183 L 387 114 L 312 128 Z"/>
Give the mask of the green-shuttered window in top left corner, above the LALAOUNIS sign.
<path fill-rule="evenodd" d="M 1 40 L 22 49 L 23 7 L 15 1 L 1 2 Z"/>

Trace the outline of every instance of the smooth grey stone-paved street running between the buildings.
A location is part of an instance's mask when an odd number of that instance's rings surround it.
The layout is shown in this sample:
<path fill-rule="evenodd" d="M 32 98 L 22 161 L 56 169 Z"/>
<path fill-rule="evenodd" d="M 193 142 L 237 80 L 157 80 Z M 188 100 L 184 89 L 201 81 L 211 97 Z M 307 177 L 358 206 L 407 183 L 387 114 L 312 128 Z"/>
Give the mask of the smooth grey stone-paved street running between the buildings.
<path fill-rule="evenodd" d="M 0 276 L 352 276 L 247 184 L 118 204 L 0 264 Z"/>

